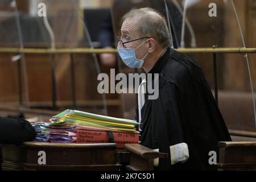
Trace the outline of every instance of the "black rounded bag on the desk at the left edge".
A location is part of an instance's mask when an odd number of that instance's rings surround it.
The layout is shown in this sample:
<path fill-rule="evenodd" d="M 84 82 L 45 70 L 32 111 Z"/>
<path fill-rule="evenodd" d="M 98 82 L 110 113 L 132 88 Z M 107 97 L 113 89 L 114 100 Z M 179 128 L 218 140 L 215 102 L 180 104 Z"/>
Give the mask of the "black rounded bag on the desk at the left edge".
<path fill-rule="evenodd" d="M 25 119 L 0 118 L 0 144 L 22 144 L 36 137 L 36 131 Z"/>

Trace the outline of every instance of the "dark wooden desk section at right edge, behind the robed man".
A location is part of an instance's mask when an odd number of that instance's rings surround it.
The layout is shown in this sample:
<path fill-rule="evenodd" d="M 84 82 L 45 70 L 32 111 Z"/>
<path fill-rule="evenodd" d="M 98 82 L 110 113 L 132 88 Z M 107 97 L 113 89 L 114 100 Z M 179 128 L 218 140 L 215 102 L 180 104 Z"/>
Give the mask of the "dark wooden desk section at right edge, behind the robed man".
<path fill-rule="evenodd" d="M 218 170 L 256 170 L 256 142 L 219 142 Z"/>

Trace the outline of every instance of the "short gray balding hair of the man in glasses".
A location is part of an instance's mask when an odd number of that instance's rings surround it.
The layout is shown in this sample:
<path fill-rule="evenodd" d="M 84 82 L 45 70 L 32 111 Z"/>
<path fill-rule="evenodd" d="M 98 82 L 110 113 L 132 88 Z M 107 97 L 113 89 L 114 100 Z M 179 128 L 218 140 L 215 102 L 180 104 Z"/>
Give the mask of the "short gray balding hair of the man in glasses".
<path fill-rule="evenodd" d="M 131 10 L 123 16 L 122 22 L 133 18 L 137 20 L 141 35 L 154 38 L 163 49 L 171 46 L 166 19 L 158 11 L 149 7 Z"/>

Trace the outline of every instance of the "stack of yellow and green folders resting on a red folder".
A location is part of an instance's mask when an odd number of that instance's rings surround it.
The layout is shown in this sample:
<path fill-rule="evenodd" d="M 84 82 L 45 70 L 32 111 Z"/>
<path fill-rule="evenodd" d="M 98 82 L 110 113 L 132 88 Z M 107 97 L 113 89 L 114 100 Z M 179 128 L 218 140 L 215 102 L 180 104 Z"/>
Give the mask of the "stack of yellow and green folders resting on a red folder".
<path fill-rule="evenodd" d="M 135 126 L 139 123 L 129 119 L 108 117 L 78 110 L 65 110 L 50 119 L 49 126 L 76 126 L 77 143 L 139 143 Z"/>

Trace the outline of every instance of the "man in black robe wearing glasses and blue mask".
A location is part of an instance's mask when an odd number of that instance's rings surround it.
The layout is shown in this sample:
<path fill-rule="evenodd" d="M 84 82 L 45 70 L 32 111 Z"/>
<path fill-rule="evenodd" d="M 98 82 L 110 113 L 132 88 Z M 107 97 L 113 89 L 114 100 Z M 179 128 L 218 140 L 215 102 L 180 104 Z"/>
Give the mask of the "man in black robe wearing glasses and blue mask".
<path fill-rule="evenodd" d="M 218 142 L 231 139 L 200 66 L 170 48 L 166 20 L 153 9 L 131 10 L 121 32 L 123 62 L 159 74 L 158 98 L 139 93 L 137 111 L 141 144 L 168 154 L 155 160 L 155 169 L 217 169 L 209 154 L 216 152 L 218 160 Z"/>

